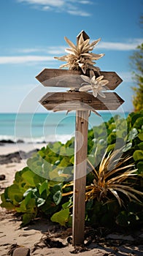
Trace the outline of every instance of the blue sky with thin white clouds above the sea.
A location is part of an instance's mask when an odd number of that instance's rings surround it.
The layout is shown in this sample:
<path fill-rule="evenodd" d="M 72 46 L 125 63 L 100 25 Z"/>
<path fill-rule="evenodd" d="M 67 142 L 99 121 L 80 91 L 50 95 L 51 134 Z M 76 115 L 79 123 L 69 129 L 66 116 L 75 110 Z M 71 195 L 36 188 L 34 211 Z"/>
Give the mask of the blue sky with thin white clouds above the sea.
<path fill-rule="evenodd" d="M 101 37 L 93 52 L 105 56 L 96 65 L 120 75 L 115 91 L 125 100 L 123 110 L 133 110 L 129 56 L 143 41 L 142 7 L 142 0 L 1 0 L 0 113 L 46 111 L 38 100 L 54 90 L 35 76 L 63 64 L 54 56 L 65 54 L 64 36 L 75 43 L 82 30 L 91 41 Z"/>

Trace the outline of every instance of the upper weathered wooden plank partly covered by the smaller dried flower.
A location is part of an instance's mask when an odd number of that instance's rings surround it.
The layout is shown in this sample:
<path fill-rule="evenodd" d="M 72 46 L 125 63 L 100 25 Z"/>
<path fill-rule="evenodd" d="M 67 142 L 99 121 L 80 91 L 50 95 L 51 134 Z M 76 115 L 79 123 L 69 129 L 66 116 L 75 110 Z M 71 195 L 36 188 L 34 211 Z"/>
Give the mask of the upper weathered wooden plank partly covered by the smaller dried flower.
<path fill-rule="evenodd" d="M 114 90 L 120 83 L 122 79 L 117 75 L 116 72 L 106 72 L 101 71 L 101 75 L 104 75 L 104 79 L 109 80 L 107 84 L 107 89 Z M 81 83 L 84 81 L 80 78 L 82 72 L 69 69 L 44 69 L 36 79 L 42 83 L 43 86 L 51 87 L 64 87 L 64 88 L 75 88 L 79 89 Z"/>

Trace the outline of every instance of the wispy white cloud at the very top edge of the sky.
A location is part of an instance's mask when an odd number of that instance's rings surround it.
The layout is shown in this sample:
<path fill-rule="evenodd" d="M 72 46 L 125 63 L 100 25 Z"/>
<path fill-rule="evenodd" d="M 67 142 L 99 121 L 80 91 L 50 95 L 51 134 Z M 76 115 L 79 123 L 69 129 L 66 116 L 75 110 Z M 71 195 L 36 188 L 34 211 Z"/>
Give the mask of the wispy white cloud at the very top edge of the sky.
<path fill-rule="evenodd" d="M 42 11 L 54 10 L 55 12 L 67 12 L 70 15 L 88 17 L 91 14 L 82 10 L 82 5 L 91 4 L 91 1 L 77 0 L 17 0 L 20 3 L 31 4 Z"/>

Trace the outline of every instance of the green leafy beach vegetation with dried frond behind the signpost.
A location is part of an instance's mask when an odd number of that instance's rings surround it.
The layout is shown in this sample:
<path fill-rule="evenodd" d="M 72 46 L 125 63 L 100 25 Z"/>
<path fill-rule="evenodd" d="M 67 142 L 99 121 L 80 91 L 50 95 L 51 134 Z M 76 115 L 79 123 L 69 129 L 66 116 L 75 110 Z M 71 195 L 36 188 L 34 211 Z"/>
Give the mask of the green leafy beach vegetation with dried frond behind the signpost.
<path fill-rule="evenodd" d="M 104 227 L 142 225 L 143 111 L 115 116 L 88 131 L 85 222 Z M 22 226 L 36 217 L 72 222 L 74 138 L 49 143 L 15 173 L 1 207 L 15 210 Z"/>

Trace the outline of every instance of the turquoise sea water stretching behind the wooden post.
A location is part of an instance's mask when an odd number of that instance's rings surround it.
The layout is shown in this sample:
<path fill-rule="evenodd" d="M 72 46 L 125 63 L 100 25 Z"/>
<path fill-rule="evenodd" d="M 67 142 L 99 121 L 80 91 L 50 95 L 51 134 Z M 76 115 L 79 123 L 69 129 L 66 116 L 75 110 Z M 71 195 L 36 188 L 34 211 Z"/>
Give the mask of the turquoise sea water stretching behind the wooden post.
<path fill-rule="evenodd" d="M 123 118 L 128 113 L 100 112 L 101 117 L 92 113 L 89 129 L 98 126 L 119 114 Z M 26 143 L 41 143 L 60 140 L 66 142 L 74 135 L 75 112 L 66 113 L 0 113 L 0 140 L 23 140 Z"/>

